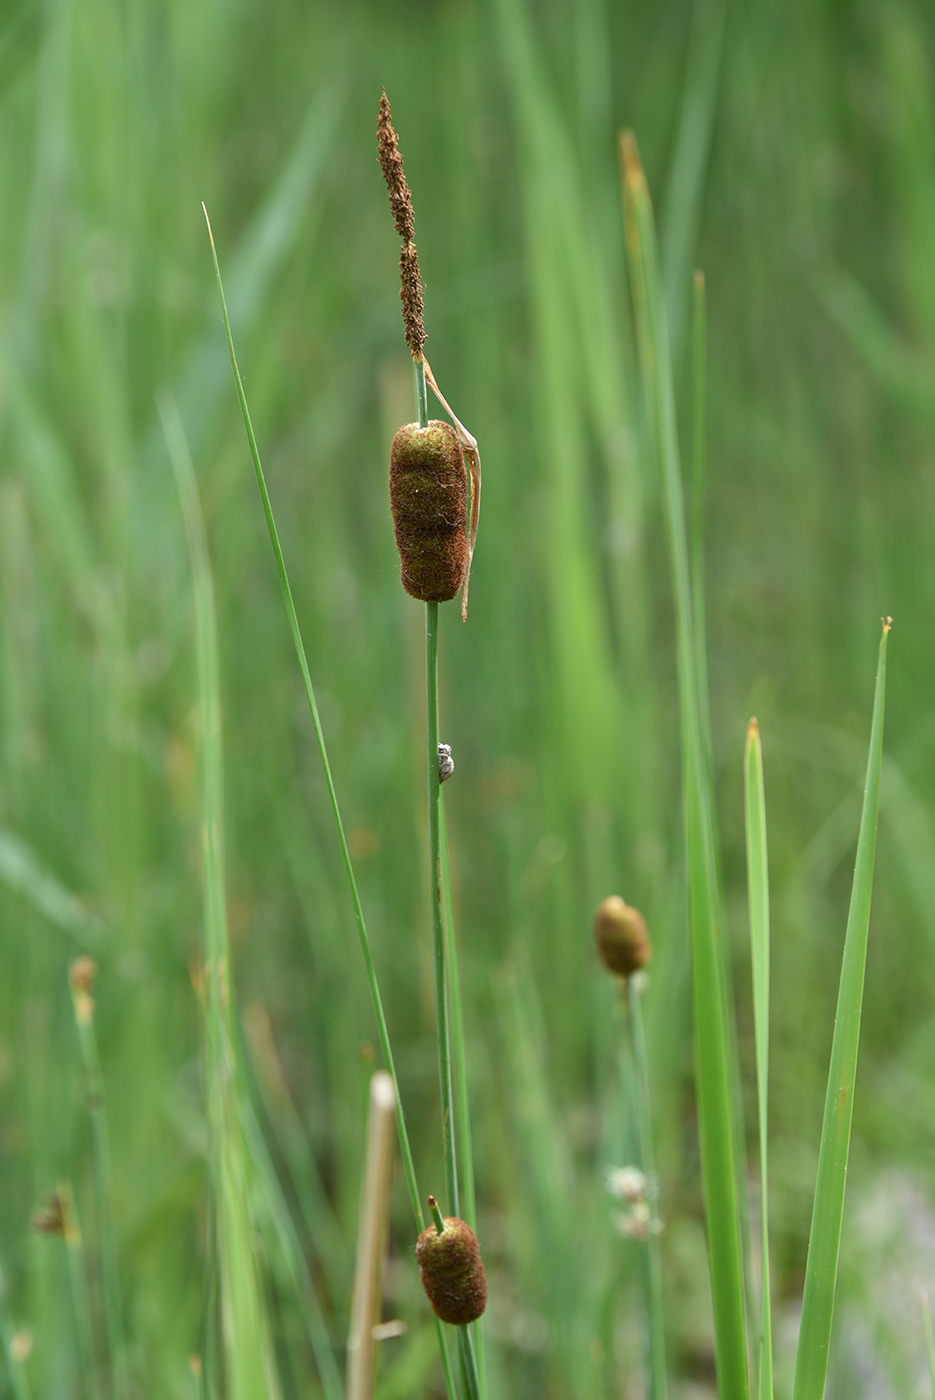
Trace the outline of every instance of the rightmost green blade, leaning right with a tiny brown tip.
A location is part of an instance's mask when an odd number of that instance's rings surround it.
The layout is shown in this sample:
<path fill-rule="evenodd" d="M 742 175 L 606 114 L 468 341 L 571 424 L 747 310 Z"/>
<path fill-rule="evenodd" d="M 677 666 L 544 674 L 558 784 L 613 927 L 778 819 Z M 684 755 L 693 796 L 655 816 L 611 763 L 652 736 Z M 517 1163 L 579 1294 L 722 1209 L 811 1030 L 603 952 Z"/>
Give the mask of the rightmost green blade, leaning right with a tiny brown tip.
<path fill-rule="evenodd" d="M 847 932 L 844 934 L 844 956 L 841 960 L 841 981 L 834 1015 L 834 1037 L 831 1040 L 831 1064 L 827 1077 L 824 1120 L 822 1123 L 822 1141 L 819 1145 L 819 1168 L 815 1183 L 809 1254 L 805 1266 L 802 1326 L 795 1354 L 792 1400 L 820 1400 L 824 1394 L 824 1379 L 827 1375 L 831 1317 L 834 1312 L 834 1285 L 837 1281 L 837 1260 L 841 1247 L 841 1222 L 844 1217 L 847 1158 L 851 1147 L 851 1120 L 854 1117 L 854 1081 L 857 1077 L 857 1050 L 861 1036 L 866 939 L 871 924 L 873 855 L 876 850 L 876 819 L 880 804 L 880 766 L 883 757 L 886 640 L 889 637 L 890 622 L 892 619 L 889 617 L 883 622 L 879 664 L 876 668 L 873 722 L 866 762 L 866 784 L 864 787 L 864 811 L 861 812 L 861 829 L 857 839 L 851 907 L 847 916 Z"/>

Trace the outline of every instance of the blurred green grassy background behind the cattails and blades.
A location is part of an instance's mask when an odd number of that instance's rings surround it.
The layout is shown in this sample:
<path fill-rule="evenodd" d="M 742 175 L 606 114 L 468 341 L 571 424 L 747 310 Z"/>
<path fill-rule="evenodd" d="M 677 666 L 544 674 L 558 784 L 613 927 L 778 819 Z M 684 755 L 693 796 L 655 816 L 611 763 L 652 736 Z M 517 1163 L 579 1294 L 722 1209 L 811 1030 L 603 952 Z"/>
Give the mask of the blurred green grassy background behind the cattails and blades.
<path fill-rule="evenodd" d="M 707 276 L 714 763 L 752 1093 L 740 763 L 756 714 L 784 1357 L 879 619 L 894 619 L 829 1394 L 913 1393 L 918 1285 L 935 1284 L 934 71 L 921 0 L 3 6 L 0 1320 L 31 1338 L 35 1394 L 83 1393 L 66 1266 L 31 1228 L 59 1177 L 74 1183 L 99 1306 L 66 976 L 78 952 L 98 960 L 133 1393 L 192 1394 L 206 1326 L 197 692 L 158 395 L 185 424 L 214 574 L 255 1095 L 339 1357 L 347 1329 L 374 1023 L 200 200 L 416 1165 L 441 1186 L 423 609 L 398 581 L 386 494 L 388 444 L 414 406 L 375 160 L 381 85 L 414 197 L 427 354 L 484 465 L 468 626 L 442 609 L 441 734 L 456 760 L 445 798 L 491 1394 L 641 1394 L 637 1246 L 610 1224 L 603 1180 L 633 1155 L 621 1022 L 591 939 L 610 892 L 645 911 L 656 949 L 672 1369 L 686 1396 L 712 1376 L 670 589 L 631 343 L 621 126 L 655 197 L 686 462 L 691 270 Z M 385 1313 L 407 1333 L 384 1345 L 385 1400 L 440 1393 L 410 1245 L 398 1189 Z M 283 1393 L 315 1394 L 301 1298 L 274 1268 L 265 1278 Z M 780 1359 L 780 1387 L 787 1371 Z M 101 1382 L 109 1393 L 104 1361 Z"/>

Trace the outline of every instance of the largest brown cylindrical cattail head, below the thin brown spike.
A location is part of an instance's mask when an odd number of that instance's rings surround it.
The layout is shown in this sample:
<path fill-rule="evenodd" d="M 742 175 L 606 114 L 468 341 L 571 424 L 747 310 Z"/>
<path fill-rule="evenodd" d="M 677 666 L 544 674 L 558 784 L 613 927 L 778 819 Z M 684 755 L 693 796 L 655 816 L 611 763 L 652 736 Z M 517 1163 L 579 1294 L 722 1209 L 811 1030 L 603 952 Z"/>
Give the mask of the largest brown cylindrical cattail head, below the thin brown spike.
<path fill-rule="evenodd" d="M 433 419 L 406 423 L 389 454 L 389 504 L 403 588 L 444 603 L 468 567 L 468 472 L 458 434 Z"/>

